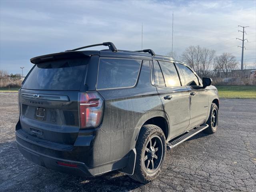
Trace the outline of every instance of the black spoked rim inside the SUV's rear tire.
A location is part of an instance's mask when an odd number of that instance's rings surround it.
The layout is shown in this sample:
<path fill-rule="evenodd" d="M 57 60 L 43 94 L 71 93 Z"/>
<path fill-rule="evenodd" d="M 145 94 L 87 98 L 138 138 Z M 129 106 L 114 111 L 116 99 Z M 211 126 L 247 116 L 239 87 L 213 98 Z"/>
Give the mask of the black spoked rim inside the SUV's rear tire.
<path fill-rule="evenodd" d="M 146 172 L 152 174 L 156 172 L 162 162 L 163 143 L 159 136 L 152 136 L 146 143 L 144 150 L 144 168 Z"/>

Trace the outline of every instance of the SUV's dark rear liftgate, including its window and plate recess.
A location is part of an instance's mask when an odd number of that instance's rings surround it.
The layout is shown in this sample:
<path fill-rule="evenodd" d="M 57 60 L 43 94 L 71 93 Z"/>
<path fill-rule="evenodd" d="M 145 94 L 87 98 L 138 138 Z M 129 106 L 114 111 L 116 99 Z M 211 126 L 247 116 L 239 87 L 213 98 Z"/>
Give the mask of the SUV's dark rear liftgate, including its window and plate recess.
<path fill-rule="evenodd" d="M 74 144 L 79 131 L 78 94 L 90 57 L 35 64 L 19 93 L 24 135 Z"/>

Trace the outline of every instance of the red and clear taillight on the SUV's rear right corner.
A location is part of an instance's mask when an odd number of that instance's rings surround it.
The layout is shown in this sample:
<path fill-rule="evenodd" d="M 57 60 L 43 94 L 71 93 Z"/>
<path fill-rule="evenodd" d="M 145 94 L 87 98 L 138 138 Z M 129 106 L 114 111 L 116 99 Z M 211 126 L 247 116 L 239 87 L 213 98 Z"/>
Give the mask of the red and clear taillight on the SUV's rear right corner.
<path fill-rule="evenodd" d="M 98 127 L 103 114 L 103 98 L 93 91 L 80 92 L 78 99 L 80 128 Z"/>

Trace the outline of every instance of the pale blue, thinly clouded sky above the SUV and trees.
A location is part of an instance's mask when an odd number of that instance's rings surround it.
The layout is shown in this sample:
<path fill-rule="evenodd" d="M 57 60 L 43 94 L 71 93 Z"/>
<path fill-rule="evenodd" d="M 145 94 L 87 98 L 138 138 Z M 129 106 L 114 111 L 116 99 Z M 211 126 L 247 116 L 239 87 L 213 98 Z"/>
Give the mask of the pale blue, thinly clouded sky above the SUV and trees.
<path fill-rule="evenodd" d="M 0 69 L 24 75 L 30 58 L 113 42 L 121 50 L 143 49 L 179 56 L 200 45 L 241 60 L 238 25 L 246 28 L 244 60 L 256 62 L 256 0 L 240 1 L 60 1 L 0 0 Z M 240 30 L 242 30 L 240 28 Z M 94 50 L 106 47 L 94 48 Z"/>

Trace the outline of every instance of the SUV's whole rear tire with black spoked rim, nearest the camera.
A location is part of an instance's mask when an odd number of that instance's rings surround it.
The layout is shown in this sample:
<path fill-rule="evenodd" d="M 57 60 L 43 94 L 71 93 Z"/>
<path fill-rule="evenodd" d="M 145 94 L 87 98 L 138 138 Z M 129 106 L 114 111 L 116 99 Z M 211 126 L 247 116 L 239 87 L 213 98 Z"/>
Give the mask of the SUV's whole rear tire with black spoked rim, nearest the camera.
<path fill-rule="evenodd" d="M 145 184 L 154 180 L 164 165 L 166 157 L 164 132 L 156 125 L 142 126 L 135 148 L 137 153 L 135 169 L 130 177 Z"/>

